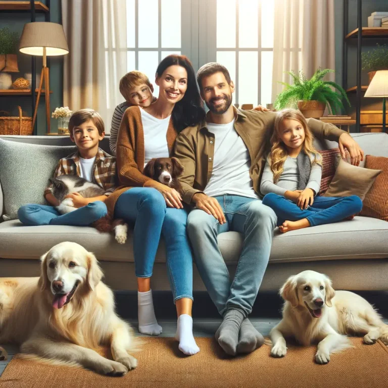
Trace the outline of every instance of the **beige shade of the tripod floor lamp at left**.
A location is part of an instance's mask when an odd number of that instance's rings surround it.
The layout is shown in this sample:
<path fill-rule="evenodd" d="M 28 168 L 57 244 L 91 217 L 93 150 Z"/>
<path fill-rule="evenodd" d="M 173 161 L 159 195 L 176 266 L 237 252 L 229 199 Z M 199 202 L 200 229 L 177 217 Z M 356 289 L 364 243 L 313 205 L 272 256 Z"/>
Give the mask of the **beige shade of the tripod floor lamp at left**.
<path fill-rule="evenodd" d="M 26 23 L 20 38 L 19 51 L 42 57 L 43 47 L 46 47 L 47 56 L 69 53 L 62 25 L 51 22 Z"/>

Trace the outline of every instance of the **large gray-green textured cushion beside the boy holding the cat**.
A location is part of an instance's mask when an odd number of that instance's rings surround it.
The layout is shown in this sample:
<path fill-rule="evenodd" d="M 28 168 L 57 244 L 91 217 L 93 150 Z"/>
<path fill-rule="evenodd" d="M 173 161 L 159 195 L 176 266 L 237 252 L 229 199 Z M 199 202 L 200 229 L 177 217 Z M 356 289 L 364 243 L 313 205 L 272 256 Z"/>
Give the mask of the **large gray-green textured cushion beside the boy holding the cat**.
<path fill-rule="evenodd" d="M 0 139 L 0 181 L 4 193 L 5 220 L 18 218 L 20 206 L 46 204 L 43 191 L 61 158 L 74 147 L 40 146 Z"/>

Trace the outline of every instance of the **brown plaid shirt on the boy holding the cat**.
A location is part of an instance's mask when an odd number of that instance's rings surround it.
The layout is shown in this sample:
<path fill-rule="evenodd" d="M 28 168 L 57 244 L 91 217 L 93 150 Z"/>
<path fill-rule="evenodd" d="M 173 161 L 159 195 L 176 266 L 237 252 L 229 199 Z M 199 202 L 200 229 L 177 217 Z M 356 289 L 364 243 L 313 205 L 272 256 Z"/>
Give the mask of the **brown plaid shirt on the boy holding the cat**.
<path fill-rule="evenodd" d="M 105 195 L 109 196 L 116 189 L 116 158 L 99 148 L 93 163 L 93 171 L 92 182 L 106 190 Z M 65 174 L 81 176 L 78 151 L 59 161 L 54 178 Z M 44 190 L 44 196 L 52 192 L 52 186 Z"/>

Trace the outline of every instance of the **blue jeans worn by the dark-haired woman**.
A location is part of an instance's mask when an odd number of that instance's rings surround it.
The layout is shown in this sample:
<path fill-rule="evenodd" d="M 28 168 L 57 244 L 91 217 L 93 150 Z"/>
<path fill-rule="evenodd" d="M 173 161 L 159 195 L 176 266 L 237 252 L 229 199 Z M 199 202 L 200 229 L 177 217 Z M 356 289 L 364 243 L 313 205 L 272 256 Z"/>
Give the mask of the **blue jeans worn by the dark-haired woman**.
<path fill-rule="evenodd" d="M 133 187 L 123 192 L 117 200 L 115 218 L 123 218 L 134 224 L 136 276 L 152 276 L 162 235 L 174 302 L 180 298 L 192 299 L 192 255 L 186 232 L 186 210 L 166 208 L 166 201 L 155 188 Z"/>

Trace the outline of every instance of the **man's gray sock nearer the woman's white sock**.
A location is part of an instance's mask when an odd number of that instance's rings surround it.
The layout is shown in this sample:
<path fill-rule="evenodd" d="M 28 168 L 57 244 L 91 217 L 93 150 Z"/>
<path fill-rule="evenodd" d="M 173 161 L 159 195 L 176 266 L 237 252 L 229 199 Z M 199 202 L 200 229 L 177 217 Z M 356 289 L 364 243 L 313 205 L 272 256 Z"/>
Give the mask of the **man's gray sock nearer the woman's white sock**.
<path fill-rule="evenodd" d="M 238 333 L 244 314 L 239 310 L 230 309 L 224 316 L 220 327 L 216 332 L 216 340 L 220 347 L 229 356 L 235 356 L 238 344 Z"/>

